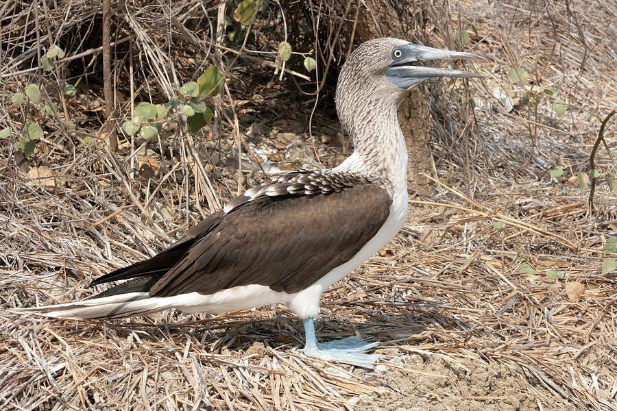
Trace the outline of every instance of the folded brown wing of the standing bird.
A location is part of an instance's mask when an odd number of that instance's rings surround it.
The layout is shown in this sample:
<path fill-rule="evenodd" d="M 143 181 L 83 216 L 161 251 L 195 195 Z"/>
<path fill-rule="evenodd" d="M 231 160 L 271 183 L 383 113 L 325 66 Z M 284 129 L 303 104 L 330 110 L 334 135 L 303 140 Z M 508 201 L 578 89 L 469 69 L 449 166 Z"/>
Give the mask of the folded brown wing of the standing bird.
<path fill-rule="evenodd" d="M 387 191 L 370 184 L 243 203 L 196 237 L 149 293 L 208 295 L 248 284 L 297 292 L 350 260 L 385 223 L 390 205 Z"/>

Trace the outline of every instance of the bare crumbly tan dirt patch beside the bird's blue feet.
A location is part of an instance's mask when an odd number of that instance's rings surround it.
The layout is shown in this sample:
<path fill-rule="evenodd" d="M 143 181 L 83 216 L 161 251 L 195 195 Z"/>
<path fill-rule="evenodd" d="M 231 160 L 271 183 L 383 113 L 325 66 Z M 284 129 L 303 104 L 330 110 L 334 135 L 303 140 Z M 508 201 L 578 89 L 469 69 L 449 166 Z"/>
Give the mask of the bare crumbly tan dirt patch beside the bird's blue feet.
<path fill-rule="evenodd" d="M 394 357 L 389 363 L 400 366 L 400 369 L 383 366 L 374 376 L 376 381 L 391 387 L 391 390 L 361 396 L 357 403 L 359 409 L 515 411 L 537 410 L 538 403 L 544 403 L 549 409 L 576 409 L 552 397 L 533 378 L 530 382 L 518 366 L 486 362 L 472 353 L 457 361 L 429 352 L 424 356 L 401 356 L 396 351 L 399 350 L 386 349 L 385 353 Z"/>

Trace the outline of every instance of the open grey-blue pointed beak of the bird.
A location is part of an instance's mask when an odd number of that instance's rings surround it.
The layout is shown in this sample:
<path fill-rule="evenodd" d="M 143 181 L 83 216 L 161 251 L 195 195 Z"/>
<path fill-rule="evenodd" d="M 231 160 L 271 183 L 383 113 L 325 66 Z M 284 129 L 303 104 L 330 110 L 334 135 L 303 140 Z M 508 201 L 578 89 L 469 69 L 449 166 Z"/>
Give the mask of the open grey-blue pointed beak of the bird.
<path fill-rule="evenodd" d="M 396 55 L 393 56 L 394 61 L 387 67 L 385 75 L 389 82 L 400 88 L 409 88 L 434 77 L 484 77 L 477 73 L 418 65 L 430 60 L 450 58 L 486 60 L 477 54 L 433 49 L 413 43 L 398 47 L 396 50 L 400 50 L 400 58 L 396 58 Z"/>

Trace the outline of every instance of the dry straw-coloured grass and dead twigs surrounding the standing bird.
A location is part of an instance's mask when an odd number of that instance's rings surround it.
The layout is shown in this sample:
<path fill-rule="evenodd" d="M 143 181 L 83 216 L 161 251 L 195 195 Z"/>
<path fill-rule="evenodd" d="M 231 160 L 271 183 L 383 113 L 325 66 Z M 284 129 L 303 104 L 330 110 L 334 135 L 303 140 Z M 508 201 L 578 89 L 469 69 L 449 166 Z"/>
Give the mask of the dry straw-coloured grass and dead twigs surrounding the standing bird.
<path fill-rule="evenodd" d="M 127 3 L 115 9 L 113 39 L 125 59 L 115 77 L 123 116 L 136 101 L 166 101 L 204 66 L 232 60 L 210 41 L 216 3 Z M 270 5 L 249 48 L 276 50 L 287 35 L 278 7 Z M 332 16 L 346 11 L 328 7 L 306 10 L 330 18 L 319 36 L 331 38 Z M 365 371 L 295 351 L 302 325 L 283 307 L 79 323 L 10 311 L 88 297 L 90 279 L 152 255 L 265 179 L 253 156 L 243 168 L 256 170 L 238 171 L 239 147 L 266 153 L 281 169 L 311 165 L 308 158 L 330 166 L 349 149 L 335 134 L 331 79 L 315 104 L 295 88 L 311 82 L 293 73 L 280 81 L 266 64 L 273 55 L 252 54 L 230 71 L 223 97 L 210 101 L 220 113 L 212 134 L 171 125 L 160 139 L 123 139 L 111 153 L 100 131 L 100 32 L 92 18 L 99 4 L 6 1 L 0 129 L 21 130 L 39 115 L 10 106 L 12 93 L 32 82 L 56 101 L 62 123 L 45 121 L 27 159 L 13 149 L 16 138 L 0 140 L 0 410 L 617 410 L 617 277 L 601 273 L 610 257 L 603 247 L 617 234 L 617 195 L 600 179 L 590 212 L 589 188 L 568 186 L 567 172 L 549 175 L 559 164 L 590 173 L 601 121 L 617 107 L 617 3 L 461 0 L 439 25 L 430 24 L 439 14 L 431 7 L 422 35 L 442 45 L 446 27 L 452 44 L 457 30 L 468 30 L 464 48 L 488 59 L 476 65 L 487 78 L 423 86 L 438 183 L 430 193 L 413 190 L 402 232 L 324 294 L 318 338 L 381 342 L 383 364 Z M 286 14 L 289 36 L 306 36 L 296 16 Z M 49 38 L 73 60 L 41 80 L 30 66 Z M 294 47 L 309 51 L 312 40 L 299 38 Z M 316 59 L 320 75 L 324 56 Z M 306 75 L 298 61 L 291 70 Z M 513 67 L 529 73 L 524 87 L 509 79 Z M 84 72 L 77 97 L 65 100 L 64 80 L 75 84 Z M 518 97 L 550 86 L 554 95 L 507 112 L 492 97 L 499 86 Z M 553 111 L 557 99 L 564 116 Z M 87 146 L 85 135 L 95 136 Z M 605 139 L 615 155 L 614 119 Z M 614 169 L 602 146 L 596 167 Z M 583 288 L 570 290 L 574 282 Z"/>

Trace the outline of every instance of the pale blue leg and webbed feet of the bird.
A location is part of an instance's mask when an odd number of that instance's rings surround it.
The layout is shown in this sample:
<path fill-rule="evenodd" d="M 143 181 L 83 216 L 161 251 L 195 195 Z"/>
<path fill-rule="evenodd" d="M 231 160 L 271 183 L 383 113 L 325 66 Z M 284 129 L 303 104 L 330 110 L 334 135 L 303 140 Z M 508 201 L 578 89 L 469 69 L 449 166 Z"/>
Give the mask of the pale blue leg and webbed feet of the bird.
<path fill-rule="evenodd" d="M 378 343 L 365 343 L 357 337 L 348 337 L 342 340 L 330 341 L 330 343 L 318 344 L 315 337 L 313 318 L 309 317 L 302 322 L 304 323 L 304 333 L 306 334 L 306 344 L 302 351 L 306 356 L 321 360 L 344 362 L 367 369 L 372 369 L 380 358 L 380 356 L 372 356 L 360 352 L 376 347 Z"/>

